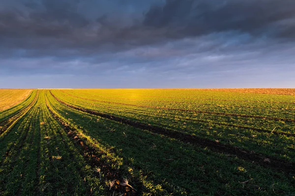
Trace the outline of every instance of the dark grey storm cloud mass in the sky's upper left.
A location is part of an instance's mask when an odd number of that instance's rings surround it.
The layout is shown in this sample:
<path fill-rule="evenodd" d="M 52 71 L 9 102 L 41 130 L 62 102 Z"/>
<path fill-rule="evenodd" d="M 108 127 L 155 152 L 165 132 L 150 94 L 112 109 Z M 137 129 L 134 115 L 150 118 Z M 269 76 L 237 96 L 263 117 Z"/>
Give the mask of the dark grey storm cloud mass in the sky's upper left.
<path fill-rule="evenodd" d="M 110 3 L 106 0 L 88 4 L 81 0 L 19 1 L 19 5 L 0 10 L 1 41 L 8 48 L 92 51 L 147 43 L 145 40 L 153 31 L 140 25 L 142 19 L 139 19 L 143 18 L 145 7 L 138 13 L 137 7 L 119 0 L 109 6 L 111 10 L 104 10 L 107 4 Z M 122 9 L 123 13 L 112 12 L 116 9 Z"/>

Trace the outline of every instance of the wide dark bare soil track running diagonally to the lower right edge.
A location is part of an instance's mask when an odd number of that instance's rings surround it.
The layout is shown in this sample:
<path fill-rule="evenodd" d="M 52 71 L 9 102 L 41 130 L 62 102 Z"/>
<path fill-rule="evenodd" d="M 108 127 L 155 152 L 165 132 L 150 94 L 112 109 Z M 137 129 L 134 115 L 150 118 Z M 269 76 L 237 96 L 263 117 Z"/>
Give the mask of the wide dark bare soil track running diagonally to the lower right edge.
<path fill-rule="evenodd" d="M 52 94 L 52 96 L 54 98 L 56 98 L 53 94 Z M 100 116 L 105 119 L 109 119 L 112 121 L 131 125 L 133 127 L 140 128 L 143 130 L 148 130 L 152 133 L 165 135 L 167 137 L 177 139 L 177 140 L 184 142 L 184 143 L 193 144 L 198 147 L 207 147 L 215 152 L 232 154 L 242 160 L 246 160 L 246 161 L 249 161 L 254 164 L 259 164 L 264 167 L 269 167 L 269 168 L 272 168 L 272 169 L 275 169 L 278 171 L 282 171 L 282 172 L 287 172 L 287 173 L 295 173 L 295 163 L 287 163 L 287 162 L 280 160 L 278 158 L 275 158 L 275 157 L 266 157 L 265 155 L 257 154 L 253 151 L 240 149 L 238 147 L 233 147 L 233 146 L 230 146 L 227 144 L 221 144 L 217 141 L 211 141 L 208 139 L 199 138 L 197 136 L 182 133 L 182 132 L 175 131 L 172 129 L 166 129 L 163 127 L 158 127 L 158 126 L 154 126 L 154 125 L 150 125 L 150 124 L 140 123 L 140 122 L 136 122 L 136 121 L 130 121 L 128 119 L 124 119 L 121 117 L 116 117 L 113 115 L 108 115 L 108 114 L 104 114 L 104 113 L 100 113 L 100 112 L 96 112 L 96 111 L 92 111 L 92 110 L 88 110 L 88 109 L 84 109 L 84 108 L 79 108 L 79 107 L 67 104 L 67 103 L 59 100 L 58 98 L 56 98 L 56 100 L 58 100 L 63 105 L 66 105 L 70 108 L 73 108 L 73 109 L 76 109 L 76 110 L 79 110 L 82 112 L 86 112 L 86 113 L 89 113 L 92 115 Z"/>

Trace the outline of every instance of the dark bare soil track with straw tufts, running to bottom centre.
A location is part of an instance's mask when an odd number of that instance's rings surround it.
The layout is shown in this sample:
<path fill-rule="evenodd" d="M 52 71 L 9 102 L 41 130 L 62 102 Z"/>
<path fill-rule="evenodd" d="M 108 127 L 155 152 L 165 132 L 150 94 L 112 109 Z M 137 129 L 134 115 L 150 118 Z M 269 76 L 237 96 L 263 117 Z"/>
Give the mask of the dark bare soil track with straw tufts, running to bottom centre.
<path fill-rule="evenodd" d="M 48 110 L 51 115 L 59 122 L 59 124 L 63 127 L 64 131 L 67 133 L 67 136 L 76 144 L 84 152 L 84 157 L 93 169 L 93 171 L 97 168 L 100 171 L 93 172 L 96 177 L 101 179 L 102 174 L 104 174 L 105 182 L 114 182 L 112 188 L 107 187 L 107 190 L 111 190 L 116 193 L 122 194 L 122 196 L 137 196 L 138 192 L 134 188 L 130 186 L 126 186 L 123 182 L 124 179 L 120 175 L 120 171 L 113 169 L 110 164 L 104 162 L 100 157 L 103 154 L 102 152 L 98 152 L 95 150 L 95 147 L 89 146 L 86 144 L 85 140 L 80 137 L 80 134 L 77 133 L 74 127 L 71 127 L 67 123 L 63 122 L 48 106 L 46 103 Z"/>

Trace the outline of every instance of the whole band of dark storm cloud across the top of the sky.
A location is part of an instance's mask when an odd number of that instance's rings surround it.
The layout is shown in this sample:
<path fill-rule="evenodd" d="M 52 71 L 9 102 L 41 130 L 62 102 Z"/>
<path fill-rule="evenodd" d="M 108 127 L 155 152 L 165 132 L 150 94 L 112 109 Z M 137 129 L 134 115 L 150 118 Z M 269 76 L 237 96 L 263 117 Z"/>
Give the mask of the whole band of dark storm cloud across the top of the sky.
<path fill-rule="evenodd" d="M 131 6 L 129 13 L 127 1 L 109 7 L 125 10 L 124 16 L 102 6 L 82 0 L 19 0 L 0 11 L 1 41 L 7 47 L 92 50 L 105 45 L 125 49 L 223 31 L 295 37 L 294 0 L 167 0 L 138 12 Z"/>

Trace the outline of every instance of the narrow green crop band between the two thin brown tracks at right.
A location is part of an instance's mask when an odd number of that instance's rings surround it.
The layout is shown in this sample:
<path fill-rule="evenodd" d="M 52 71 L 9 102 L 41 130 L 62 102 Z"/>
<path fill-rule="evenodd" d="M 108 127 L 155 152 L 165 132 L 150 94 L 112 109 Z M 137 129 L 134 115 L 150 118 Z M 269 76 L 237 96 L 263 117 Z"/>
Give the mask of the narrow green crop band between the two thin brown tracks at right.
<path fill-rule="evenodd" d="M 162 119 L 168 120 L 178 120 L 182 119 L 187 122 L 194 121 L 194 122 L 207 122 L 207 123 L 215 123 L 215 124 L 224 124 L 239 128 L 246 128 L 246 129 L 253 129 L 262 132 L 271 132 L 275 134 L 282 134 L 282 135 L 294 135 L 294 123 L 293 121 L 266 121 L 263 118 L 255 118 L 249 121 L 249 118 L 240 118 L 239 115 L 231 114 L 231 115 L 214 115 L 212 113 L 203 113 L 203 112 L 182 112 L 182 111 L 167 111 L 162 110 L 160 108 L 148 108 L 148 109 L 139 109 L 139 108 L 121 108 L 119 106 L 107 106 L 107 105 L 100 105 L 94 104 L 89 102 L 82 102 L 82 101 L 75 101 L 76 105 L 79 103 L 83 107 L 88 107 L 93 110 L 99 110 L 102 112 L 111 113 L 114 115 L 125 116 L 129 118 L 139 117 L 141 115 L 147 118 L 154 118 L 154 123 L 161 123 Z M 229 118 L 230 117 L 230 118 Z M 165 121 L 165 120 L 164 120 Z M 220 123 L 224 122 L 224 123 Z M 177 122 L 176 122 L 177 123 Z M 186 124 L 186 123 L 185 123 Z M 274 130 L 271 127 L 275 127 Z M 267 130 L 271 128 L 270 130 Z"/>

